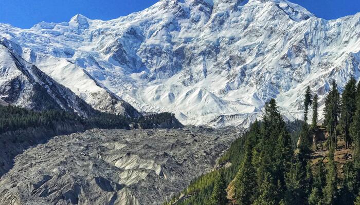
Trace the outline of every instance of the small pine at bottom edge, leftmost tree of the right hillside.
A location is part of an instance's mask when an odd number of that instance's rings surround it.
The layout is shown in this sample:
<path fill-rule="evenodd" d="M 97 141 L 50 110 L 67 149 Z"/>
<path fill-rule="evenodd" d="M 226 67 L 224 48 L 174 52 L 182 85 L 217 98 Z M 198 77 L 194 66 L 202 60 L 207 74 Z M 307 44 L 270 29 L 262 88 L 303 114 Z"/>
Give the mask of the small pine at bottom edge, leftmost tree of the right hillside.
<path fill-rule="evenodd" d="M 226 205 L 228 203 L 226 182 L 222 170 L 217 173 L 214 188 L 207 205 Z"/>

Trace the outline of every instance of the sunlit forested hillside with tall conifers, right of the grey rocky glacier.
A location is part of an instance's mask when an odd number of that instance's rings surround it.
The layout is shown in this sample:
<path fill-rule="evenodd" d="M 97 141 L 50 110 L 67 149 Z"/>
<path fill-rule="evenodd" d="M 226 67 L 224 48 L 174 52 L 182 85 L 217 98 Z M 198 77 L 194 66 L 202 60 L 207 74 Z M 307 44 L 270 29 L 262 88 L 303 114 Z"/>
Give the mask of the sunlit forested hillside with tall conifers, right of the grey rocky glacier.
<path fill-rule="evenodd" d="M 352 77 L 340 95 L 333 81 L 321 126 L 317 95 L 303 98 L 305 121 L 286 126 L 269 100 L 219 166 L 165 204 L 360 204 L 360 84 Z"/>

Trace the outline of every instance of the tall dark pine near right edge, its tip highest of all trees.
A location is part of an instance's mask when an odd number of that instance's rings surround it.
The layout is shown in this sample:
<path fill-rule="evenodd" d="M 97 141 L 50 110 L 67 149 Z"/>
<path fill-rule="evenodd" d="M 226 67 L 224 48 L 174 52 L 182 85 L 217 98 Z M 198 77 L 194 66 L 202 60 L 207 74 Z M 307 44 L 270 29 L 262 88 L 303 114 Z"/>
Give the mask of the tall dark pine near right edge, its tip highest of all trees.
<path fill-rule="evenodd" d="M 351 137 L 349 133 L 350 125 L 353 121 L 353 114 L 356 109 L 356 80 L 351 77 L 345 85 L 343 95 L 341 96 L 341 115 L 339 125 L 344 133 L 345 148 L 351 145 Z"/>

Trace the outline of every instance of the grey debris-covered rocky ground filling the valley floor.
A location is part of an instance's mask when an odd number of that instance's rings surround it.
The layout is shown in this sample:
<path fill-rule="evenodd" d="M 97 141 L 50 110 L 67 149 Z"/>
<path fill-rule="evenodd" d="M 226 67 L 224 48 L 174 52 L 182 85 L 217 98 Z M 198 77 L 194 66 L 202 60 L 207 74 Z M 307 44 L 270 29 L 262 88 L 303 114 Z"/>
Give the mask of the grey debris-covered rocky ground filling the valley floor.
<path fill-rule="evenodd" d="M 241 129 L 100 130 L 16 156 L 0 204 L 162 204 L 211 170 Z"/>

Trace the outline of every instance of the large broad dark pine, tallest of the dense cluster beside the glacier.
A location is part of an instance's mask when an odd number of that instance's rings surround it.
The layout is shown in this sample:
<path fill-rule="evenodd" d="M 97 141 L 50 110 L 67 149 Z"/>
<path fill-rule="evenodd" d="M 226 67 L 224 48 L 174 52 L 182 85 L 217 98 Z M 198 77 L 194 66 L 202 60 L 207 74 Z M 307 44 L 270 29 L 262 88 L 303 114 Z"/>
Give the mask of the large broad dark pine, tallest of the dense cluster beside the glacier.
<path fill-rule="evenodd" d="M 257 185 L 258 187 L 262 186 L 265 178 L 264 173 L 268 173 L 272 178 L 272 186 L 283 189 L 285 173 L 290 169 L 293 150 L 291 136 L 274 99 L 265 104 L 260 132 L 261 138 L 254 150 L 253 158 Z M 279 203 L 283 192 L 280 190 L 274 194 L 276 194 L 274 196 L 276 203 Z"/>

